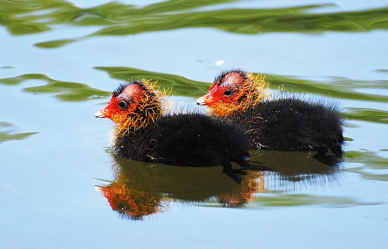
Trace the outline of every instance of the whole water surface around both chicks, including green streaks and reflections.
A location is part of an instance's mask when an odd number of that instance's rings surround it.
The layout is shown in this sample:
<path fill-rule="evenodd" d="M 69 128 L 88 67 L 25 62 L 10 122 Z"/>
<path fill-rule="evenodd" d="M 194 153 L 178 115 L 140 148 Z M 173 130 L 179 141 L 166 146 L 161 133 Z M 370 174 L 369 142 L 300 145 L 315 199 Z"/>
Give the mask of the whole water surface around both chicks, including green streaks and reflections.
<path fill-rule="evenodd" d="M 387 1 L 211 2 L 0 1 L 0 248 L 387 247 Z M 343 162 L 251 151 L 275 171 L 238 185 L 110 153 L 118 83 L 194 105 L 233 67 L 339 103 Z"/>

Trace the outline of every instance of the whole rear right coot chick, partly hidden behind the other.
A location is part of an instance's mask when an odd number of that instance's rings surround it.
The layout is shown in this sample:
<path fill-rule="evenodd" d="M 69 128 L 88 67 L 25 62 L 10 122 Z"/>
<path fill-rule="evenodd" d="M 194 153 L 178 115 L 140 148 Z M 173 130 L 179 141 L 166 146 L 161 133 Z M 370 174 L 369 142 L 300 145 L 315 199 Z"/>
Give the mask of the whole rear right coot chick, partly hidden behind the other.
<path fill-rule="evenodd" d="M 224 71 L 197 104 L 243 123 L 252 149 L 317 150 L 322 155 L 331 149 L 342 154 L 343 120 L 337 106 L 290 94 L 271 97 L 267 88 L 261 76 L 240 69 Z"/>

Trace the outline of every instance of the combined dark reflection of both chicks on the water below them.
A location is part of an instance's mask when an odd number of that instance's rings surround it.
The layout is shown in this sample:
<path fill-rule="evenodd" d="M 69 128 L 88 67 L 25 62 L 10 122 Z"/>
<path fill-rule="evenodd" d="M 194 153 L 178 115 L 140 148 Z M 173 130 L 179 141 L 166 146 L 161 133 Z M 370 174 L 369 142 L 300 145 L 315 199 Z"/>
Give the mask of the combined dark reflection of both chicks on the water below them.
<path fill-rule="evenodd" d="M 242 208 L 259 193 L 281 193 L 298 185 L 338 183 L 339 160 L 332 160 L 333 164 L 328 166 L 313 158 L 314 153 L 251 153 L 253 160 L 274 171 L 245 170 L 240 184 L 224 174 L 221 166 L 154 165 L 113 155 L 114 181 L 105 186 L 96 185 L 96 190 L 108 199 L 120 217 L 142 220 L 169 211 L 171 202 Z"/>

